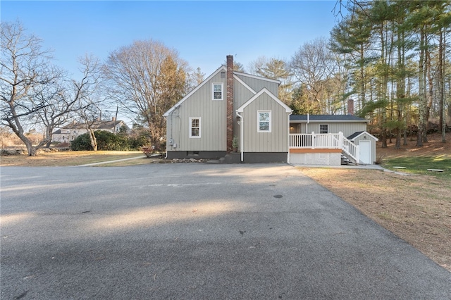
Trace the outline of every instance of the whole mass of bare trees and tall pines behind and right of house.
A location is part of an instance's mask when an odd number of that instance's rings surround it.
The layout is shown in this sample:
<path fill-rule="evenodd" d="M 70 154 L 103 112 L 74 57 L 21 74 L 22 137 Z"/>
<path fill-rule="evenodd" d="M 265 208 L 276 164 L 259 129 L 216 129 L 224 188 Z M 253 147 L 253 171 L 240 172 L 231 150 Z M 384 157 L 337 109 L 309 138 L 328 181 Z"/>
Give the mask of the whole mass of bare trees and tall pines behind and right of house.
<path fill-rule="evenodd" d="M 330 39 L 303 44 L 285 63 L 258 58 L 250 73 L 280 80 L 280 99 L 296 114 L 346 114 L 353 99 L 384 147 L 396 137 L 399 148 L 409 135 L 422 146 L 431 120 L 445 142 L 450 8 L 450 1 L 350 1 Z"/>

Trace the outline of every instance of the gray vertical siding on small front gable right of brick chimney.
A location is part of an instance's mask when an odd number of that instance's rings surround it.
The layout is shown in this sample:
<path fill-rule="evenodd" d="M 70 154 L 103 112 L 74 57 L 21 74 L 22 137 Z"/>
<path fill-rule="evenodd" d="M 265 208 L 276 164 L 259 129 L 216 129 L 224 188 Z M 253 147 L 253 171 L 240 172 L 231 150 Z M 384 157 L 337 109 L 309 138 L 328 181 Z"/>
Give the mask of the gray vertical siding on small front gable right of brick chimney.
<path fill-rule="evenodd" d="M 271 132 L 257 132 L 257 111 L 271 111 Z M 246 106 L 242 115 L 245 118 L 245 152 L 288 152 L 289 116 L 268 94 L 261 94 Z"/>

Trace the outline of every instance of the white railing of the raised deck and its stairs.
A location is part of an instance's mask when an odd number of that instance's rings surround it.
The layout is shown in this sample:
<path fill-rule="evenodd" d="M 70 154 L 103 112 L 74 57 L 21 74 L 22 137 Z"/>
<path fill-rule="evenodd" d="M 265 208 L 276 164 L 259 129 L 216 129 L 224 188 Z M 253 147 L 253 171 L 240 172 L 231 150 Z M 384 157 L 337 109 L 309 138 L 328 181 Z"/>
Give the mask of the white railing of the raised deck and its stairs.
<path fill-rule="evenodd" d="M 338 133 L 290 133 L 290 149 L 342 149 L 359 163 L 359 146 Z"/>

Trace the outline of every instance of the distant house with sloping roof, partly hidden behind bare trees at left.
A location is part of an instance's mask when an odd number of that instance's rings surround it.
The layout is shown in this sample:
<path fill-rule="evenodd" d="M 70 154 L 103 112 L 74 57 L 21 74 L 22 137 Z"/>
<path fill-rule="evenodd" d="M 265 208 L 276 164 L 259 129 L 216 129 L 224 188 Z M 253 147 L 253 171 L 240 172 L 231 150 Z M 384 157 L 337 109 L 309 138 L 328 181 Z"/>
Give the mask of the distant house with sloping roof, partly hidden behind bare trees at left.
<path fill-rule="evenodd" d="M 123 122 L 122 120 L 115 120 L 112 118 L 111 120 L 103 120 L 94 122 L 92 125 L 93 130 L 104 130 L 108 132 L 119 132 L 121 127 L 125 127 L 127 131 L 130 130 L 130 127 Z M 72 142 L 76 137 L 82 135 L 87 132 L 85 123 L 70 123 L 60 129 L 56 130 L 52 134 L 53 142 Z"/>

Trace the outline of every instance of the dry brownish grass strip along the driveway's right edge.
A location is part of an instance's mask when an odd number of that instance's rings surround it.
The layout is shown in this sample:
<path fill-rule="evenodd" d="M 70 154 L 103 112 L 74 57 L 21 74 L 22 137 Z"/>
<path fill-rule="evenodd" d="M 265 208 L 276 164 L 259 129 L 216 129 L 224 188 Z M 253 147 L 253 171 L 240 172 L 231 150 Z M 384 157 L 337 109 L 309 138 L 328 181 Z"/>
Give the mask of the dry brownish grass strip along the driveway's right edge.
<path fill-rule="evenodd" d="M 451 271 L 450 182 L 378 170 L 299 169 Z"/>

